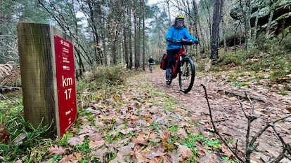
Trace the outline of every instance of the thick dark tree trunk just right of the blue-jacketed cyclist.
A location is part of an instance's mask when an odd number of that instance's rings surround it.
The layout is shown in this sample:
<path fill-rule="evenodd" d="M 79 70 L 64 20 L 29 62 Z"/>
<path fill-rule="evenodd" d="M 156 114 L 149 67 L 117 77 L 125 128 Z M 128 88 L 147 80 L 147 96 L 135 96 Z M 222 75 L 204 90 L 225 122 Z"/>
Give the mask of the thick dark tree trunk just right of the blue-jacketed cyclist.
<path fill-rule="evenodd" d="M 212 35 L 211 35 L 211 54 L 210 59 L 218 59 L 218 42 L 219 42 L 219 8 L 221 0 L 214 1 L 214 10 L 213 10 L 213 25 L 212 25 Z"/>

